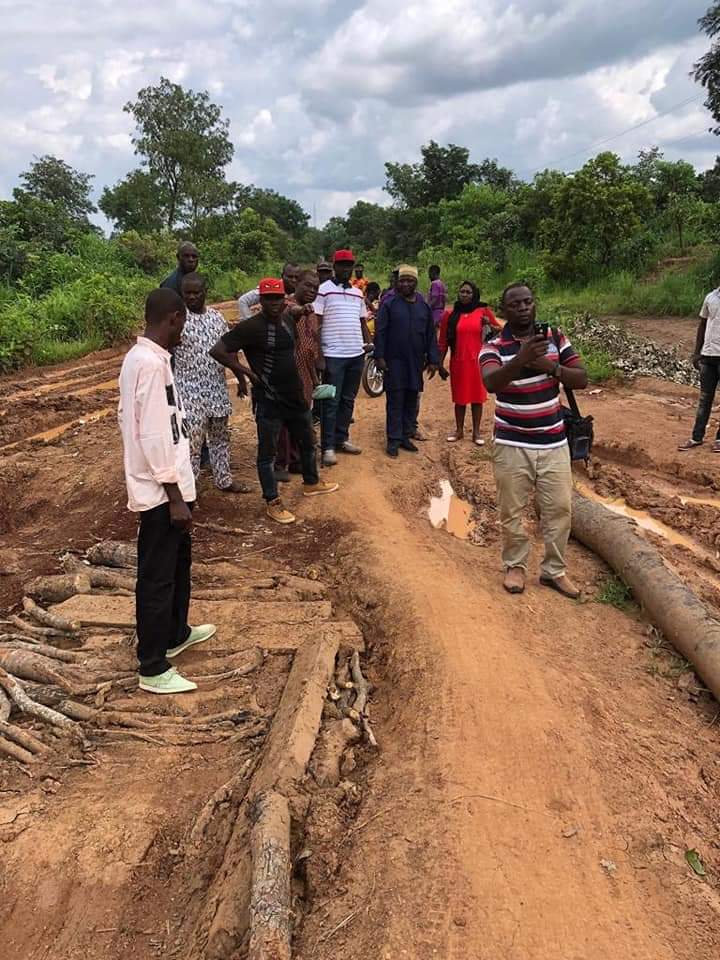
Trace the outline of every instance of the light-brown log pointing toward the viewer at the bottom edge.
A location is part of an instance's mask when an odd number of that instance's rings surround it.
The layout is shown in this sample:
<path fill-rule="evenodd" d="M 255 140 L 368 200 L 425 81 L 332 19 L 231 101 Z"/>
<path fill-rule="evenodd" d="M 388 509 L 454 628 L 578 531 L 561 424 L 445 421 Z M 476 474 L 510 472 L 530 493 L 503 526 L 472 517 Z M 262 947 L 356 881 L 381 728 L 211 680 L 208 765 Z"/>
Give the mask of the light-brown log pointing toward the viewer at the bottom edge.
<path fill-rule="evenodd" d="M 290 810 L 275 791 L 258 797 L 250 835 L 249 960 L 291 960 Z"/>

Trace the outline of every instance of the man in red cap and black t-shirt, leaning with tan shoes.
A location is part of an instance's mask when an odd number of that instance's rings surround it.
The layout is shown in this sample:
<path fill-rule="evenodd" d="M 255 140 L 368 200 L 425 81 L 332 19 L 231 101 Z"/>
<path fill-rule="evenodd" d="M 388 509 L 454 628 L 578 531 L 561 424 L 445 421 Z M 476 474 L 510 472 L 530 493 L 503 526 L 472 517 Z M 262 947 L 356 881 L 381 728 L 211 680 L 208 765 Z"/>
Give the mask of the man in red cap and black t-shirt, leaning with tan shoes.
<path fill-rule="evenodd" d="M 285 509 L 278 496 L 274 469 L 283 427 L 287 427 L 290 438 L 300 449 L 304 496 L 333 493 L 338 484 L 326 483 L 318 476 L 312 417 L 295 360 L 296 320 L 292 311 L 285 309 L 283 282 L 268 277 L 260 281 L 259 292 L 260 313 L 243 320 L 221 337 L 210 356 L 233 371 L 241 394 L 247 394 L 245 378 L 252 383 L 258 432 L 258 477 L 267 502 L 267 514 L 278 523 L 293 523 L 294 515 Z M 240 363 L 240 350 L 248 366 Z"/>

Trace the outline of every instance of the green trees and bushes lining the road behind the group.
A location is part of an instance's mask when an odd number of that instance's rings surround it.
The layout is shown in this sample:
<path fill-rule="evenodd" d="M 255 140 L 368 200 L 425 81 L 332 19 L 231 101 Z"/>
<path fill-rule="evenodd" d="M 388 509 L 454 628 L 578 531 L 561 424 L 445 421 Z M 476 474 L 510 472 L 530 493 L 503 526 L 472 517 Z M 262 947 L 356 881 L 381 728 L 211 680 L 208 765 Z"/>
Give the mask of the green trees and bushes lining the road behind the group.
<path fill-rule="evenodd" d="M 162 80 L 125 109 L 140 165 L 100 194 L 109 237 L 92 219 L 93 176 L 60 158 L 36 158 L 0 200 L 0 371 L 127 339 L 185 238 L 201 250 L 215 300 L 286 259 L 313 263 L 337 247 L 352 247 L 383 286 L 402 260 L 423 277 L 438 263 L 451 296 L 470 278 L 493 306 L 507 283 L 526 280 L 551 320 L 694 316 L 720 283 L 720 158 L 698 174 L 657 148 L 634 164 L 601 153 L 526 181 L 431 141 L 417 163 L 386 164 L 390 206 L 358 201 L 318 230 L 296 201 L 226 179 L 229 124 L 206 93 Z M 593 379 L 612 375 L 609 355 L 587 360 Z"/>

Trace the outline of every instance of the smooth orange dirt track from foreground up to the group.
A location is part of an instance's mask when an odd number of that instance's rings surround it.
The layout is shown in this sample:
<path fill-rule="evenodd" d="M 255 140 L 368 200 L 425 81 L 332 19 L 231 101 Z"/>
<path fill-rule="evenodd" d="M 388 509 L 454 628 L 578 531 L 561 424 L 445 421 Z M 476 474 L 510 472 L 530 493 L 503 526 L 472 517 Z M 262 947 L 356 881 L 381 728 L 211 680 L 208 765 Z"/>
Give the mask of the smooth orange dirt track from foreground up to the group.
<path fill-rule="evenodd" d="M 691 743 L 712 763 L 716 736 L 650 681 L 637 620 L 540 587 L 511 601 L 494 545 L 433 532 L 422 510 L 444 451 L 423 445 L 396 466 L 370 413 L 358 431 L 369 455 L 340 468 L 342 515 L 363 518 L 353 562 L 382 598 L 390 689 L 375 819 L 341 875 L 365 880 L 342 908 L 365 913 L 343 955 L 370 957 L 375 943 L 383 957 L 659 960 L 688 950 L 682 907 L 708 911 L 695 948 L 717 945 L 720 901 L 678 856 L 697 836 L 688 825 L 704 822 L 709 839 L 717 815 L 708 796 L 698 819 L 696 775 L 665 779 Z M 436 433 L 439 417 L 425 423 Z M 572 556 L 585 583 L 604 575 L 580 548 Z"/>

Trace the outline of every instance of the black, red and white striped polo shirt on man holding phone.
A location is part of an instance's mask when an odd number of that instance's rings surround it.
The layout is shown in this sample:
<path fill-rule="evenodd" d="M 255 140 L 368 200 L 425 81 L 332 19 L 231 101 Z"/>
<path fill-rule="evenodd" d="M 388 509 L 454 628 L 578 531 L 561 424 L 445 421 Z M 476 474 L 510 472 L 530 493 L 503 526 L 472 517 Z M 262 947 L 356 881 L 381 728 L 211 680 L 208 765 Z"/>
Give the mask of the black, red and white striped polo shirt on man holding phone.
<path fill-rule="evenodd" d="M 580 362 L 572 344 L 562 332 L 555 334 L 560 345 L 559 359 L 563 366 Z M 520 352 L 522 343 L 516 340 L 506 324 L 499 337 L 485 344 L 480 353 L 483 371 L 509 363 Z M 558 348 L 552 330 L 548 330 L 547 357 L 558 359 Z M 552 450 L 567 443 L 560 384 L 547 373 L 538 373 L 527 367 L 518 380 L 511 381 L 495 397 L 495 443 L 530 450 Z"/>

